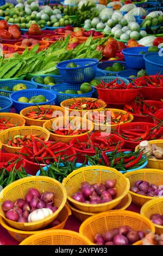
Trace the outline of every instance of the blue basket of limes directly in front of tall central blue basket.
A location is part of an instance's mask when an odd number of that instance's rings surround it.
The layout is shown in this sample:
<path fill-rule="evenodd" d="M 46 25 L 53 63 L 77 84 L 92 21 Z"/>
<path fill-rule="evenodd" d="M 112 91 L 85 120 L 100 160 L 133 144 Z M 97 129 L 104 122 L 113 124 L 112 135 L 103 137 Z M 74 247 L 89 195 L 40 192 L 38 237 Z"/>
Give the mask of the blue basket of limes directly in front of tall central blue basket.
<path fill-rule="evenodd" d="M 80 90 L 80 85 L 69 85 L 69 84 L 59 84 L 59 85 L 53 85 L 50 89 L 53 93 L 57 95 L 56 103 L 57 105 L 60 105 L 61 102 L 63 102 L 66 99 L 71 98 L 83 98 L 83 97 L 92 97 L 92 94 L 95 92 L 95 88 L 92 86 L 92 91 L 89 93 L 83 93 L 83 94 L 66 94 L 66 93 L 59 93 L 64 92 L 65 90 Z"/>

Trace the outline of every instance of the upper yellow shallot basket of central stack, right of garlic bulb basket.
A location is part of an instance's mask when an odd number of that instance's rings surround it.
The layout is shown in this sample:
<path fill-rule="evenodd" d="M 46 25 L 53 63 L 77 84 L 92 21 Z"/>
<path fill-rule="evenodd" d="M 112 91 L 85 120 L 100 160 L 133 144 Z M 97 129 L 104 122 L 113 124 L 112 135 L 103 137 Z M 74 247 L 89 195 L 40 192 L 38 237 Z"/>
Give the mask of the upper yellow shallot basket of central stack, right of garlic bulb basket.
<path fill-rule="evenodd" d="M 103 204 L 84 204 L 72 199 L 72 195 L 79 190 L 82 182 L 87 181 L 90 184 L 104 183 L 106 180 L 116 180 L 117 196 L 114 200 Z M 86 166 L 74 170 L 69 174 L 62 184 L 67 190 L 67 199 L 77 209 L 84 212 L 103 212 L 109 211 L 120 204 L 121 200 L 127 195 L 129 191 L 129 181 L 126 177 L 114 168 L 106 166 Z"/>

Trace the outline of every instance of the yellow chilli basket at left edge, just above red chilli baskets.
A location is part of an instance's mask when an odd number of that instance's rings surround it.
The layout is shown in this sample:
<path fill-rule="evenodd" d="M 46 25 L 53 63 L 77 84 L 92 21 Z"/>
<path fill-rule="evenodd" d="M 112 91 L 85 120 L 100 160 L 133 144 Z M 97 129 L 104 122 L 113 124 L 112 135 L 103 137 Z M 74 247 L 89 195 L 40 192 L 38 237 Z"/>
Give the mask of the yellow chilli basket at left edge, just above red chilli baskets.
<path fill-rule="evenodd" d="M 14 138 L 16 135 L 40 135 L 48 141 L 50 133 L 48 130 L 39 126 L 23 126 L 23 127 L 12 127 L 4 130 L 0 133 L 0 141 L 2 142 L 2 147 L 7 153 L 19 153 L 22 147 L 12 147 L 8 146 L 6 143 L 10 138 Z"/>

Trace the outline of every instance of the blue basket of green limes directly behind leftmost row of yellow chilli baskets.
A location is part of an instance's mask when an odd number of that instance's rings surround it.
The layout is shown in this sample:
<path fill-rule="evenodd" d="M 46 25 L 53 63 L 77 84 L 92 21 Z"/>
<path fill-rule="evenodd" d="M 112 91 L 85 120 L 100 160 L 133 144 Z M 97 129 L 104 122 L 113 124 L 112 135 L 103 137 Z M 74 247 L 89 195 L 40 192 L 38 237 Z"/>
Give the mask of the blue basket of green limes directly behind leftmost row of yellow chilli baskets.
<path fill-rule="evenodd" d="M 57 98 L 56 94 L 54 94 L 54 92 L 50 92 L 48 90 L 41 90 L 41 89 L 29 89 L 29 90 L 21 90 L 18 92 L 13 92 L 10 95 L 10 99 L 13 101 L 16 112 L 19 113 L 22 109 L 27 108 L 28 106 L 35 106 L 36 104 L 17 102 L 18 98 L 20 97 L 30 98 L 40 94 L 45 96 L 46 99 L 48 99 L 48 102 L 37 103 L 37 105 L 55 105 L 55 99 Z"/>

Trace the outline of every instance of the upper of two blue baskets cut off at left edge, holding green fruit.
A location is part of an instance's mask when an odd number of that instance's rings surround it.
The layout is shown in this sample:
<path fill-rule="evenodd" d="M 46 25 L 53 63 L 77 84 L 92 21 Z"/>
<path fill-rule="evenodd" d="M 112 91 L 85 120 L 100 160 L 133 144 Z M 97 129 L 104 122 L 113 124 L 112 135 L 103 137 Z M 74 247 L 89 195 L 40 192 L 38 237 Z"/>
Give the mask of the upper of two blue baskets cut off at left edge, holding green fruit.
<path fill-rule="evenodd" d="M 26 80 L 7 80 L 7 81 L 0 81 L 0 95 L 1 96 L 5 96 L 5 97 L 10 97 L 10 94 L 13 93 L 13 91 L 5 91 L 5 90 L 1 90 L 2 86 L 9 86 L 10 89 L 12 89 L 12 87 L 14 85 L 17 84 L 24 84 L 27 86 L 27 89 L 34 89 L 37 88 L 37 85 L 34 85 L 32 82 L 26 81 Z"/>

